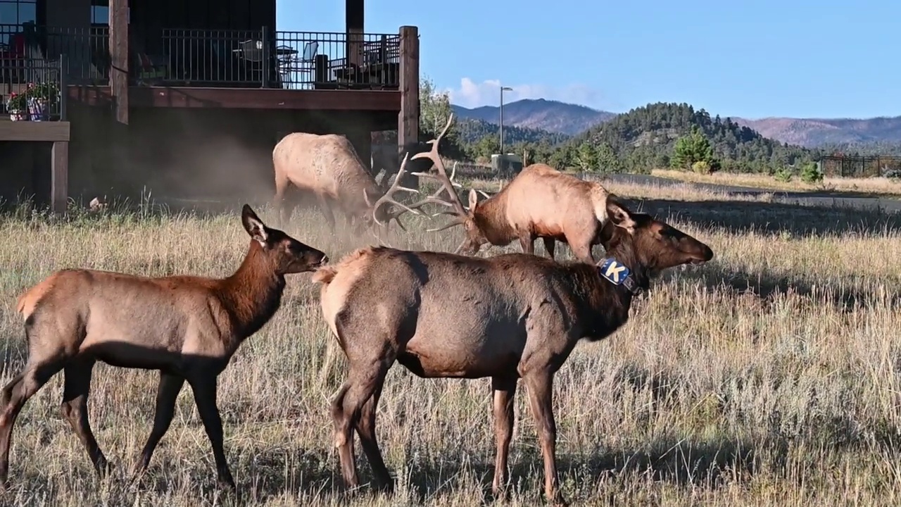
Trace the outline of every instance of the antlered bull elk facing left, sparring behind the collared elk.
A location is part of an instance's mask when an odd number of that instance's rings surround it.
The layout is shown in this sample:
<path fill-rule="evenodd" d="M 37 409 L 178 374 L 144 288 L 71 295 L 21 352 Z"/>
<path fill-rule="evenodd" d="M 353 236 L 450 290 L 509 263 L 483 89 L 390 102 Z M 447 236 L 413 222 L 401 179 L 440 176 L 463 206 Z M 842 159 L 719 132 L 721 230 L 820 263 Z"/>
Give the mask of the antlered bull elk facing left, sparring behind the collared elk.
<path fill-rule="evenodd" d="M 420 156 L 430 156 L 423 153 Z M 554 258 L 554 241 L 569 244 L 576 258 L 594 264 L 591 247 L 600 243 L 598 234 L 606 220 L 606 189 L 595 181 L 579 180 L 542 163 L 523 169 L 494 196 L 478 202 L 475 189 L 469 190 L 469 207 L 464 207 L 451 189 L 453 175 L 447 177 L 439 157 L 432 157 L 438 179 L 448 189 L 446 206 L 451 223 L 429 229 L 441 231 L 463 226 L 465 239 L 454 253 L 474 254 L 483 244 L 505 246 L 519 239 L 524 253 L 534 252 L 534 242 L 541 237 L 544 248 Z"/>

